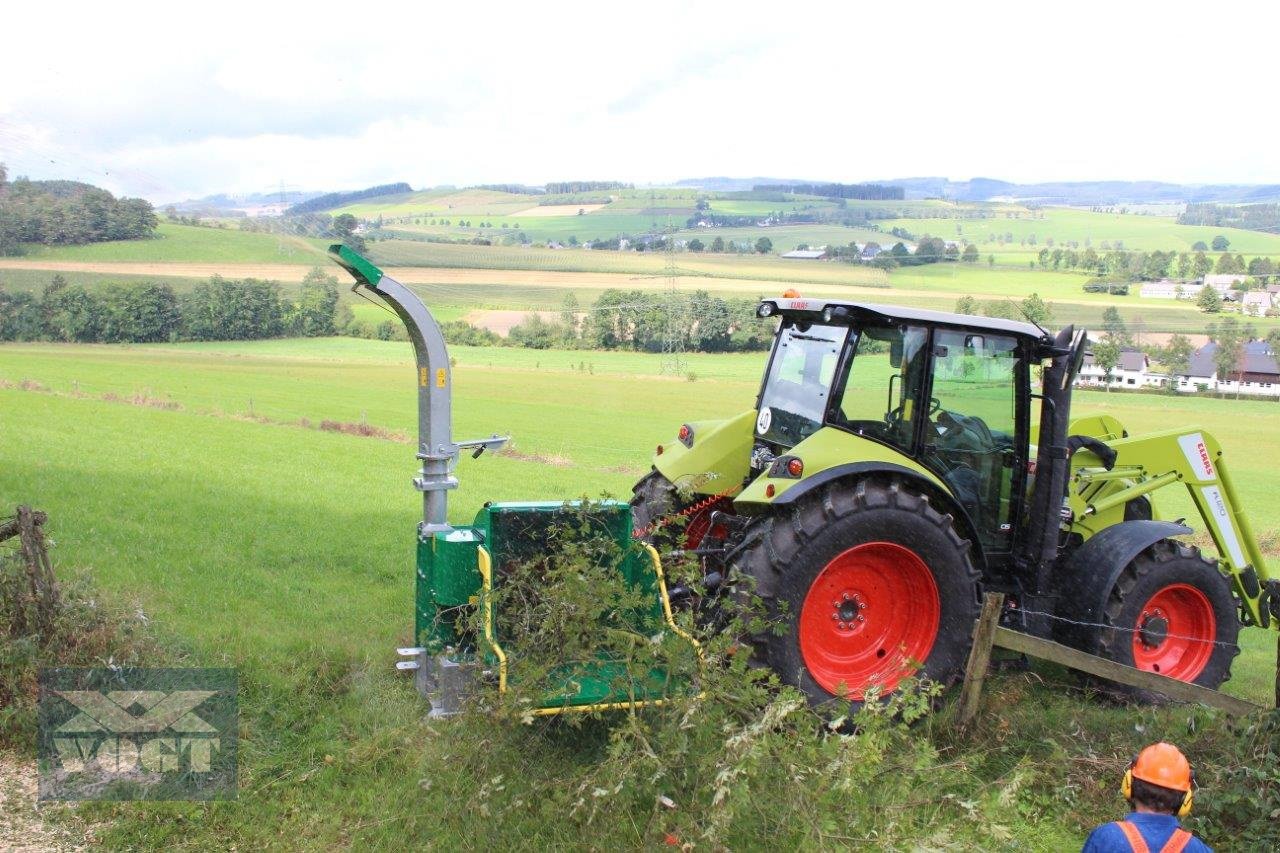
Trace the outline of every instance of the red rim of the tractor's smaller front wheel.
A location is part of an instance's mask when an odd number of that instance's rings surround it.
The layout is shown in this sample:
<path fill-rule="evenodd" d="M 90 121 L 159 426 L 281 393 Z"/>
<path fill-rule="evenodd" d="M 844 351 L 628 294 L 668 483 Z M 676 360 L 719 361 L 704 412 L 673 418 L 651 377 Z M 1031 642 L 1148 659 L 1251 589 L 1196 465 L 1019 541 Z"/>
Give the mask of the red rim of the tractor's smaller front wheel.
<path fill-rule="evenodd" d="M 1208 596 L 1188 584 L 1156 592 L 1138 613 L 1133 635 L 1133 665 L 1180 681 L 1194 681 L 1217 638 L 1217 619 Z"/>

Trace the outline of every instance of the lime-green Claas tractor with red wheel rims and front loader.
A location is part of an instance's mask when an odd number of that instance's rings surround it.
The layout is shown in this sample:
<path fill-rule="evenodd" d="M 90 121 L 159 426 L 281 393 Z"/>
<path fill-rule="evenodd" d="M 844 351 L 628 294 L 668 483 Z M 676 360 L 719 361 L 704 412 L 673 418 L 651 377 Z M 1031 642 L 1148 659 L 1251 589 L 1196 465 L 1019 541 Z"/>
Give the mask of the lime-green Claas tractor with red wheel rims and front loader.
<path fill-rule="evenodd" d="M 782 626 L 755 646 L 812 702 L 955 680 L 983 592 L 1019 630 L 1210 688 L 1242 625 L 1280 624 L 1212 435 L 1073 418 L 1083 333 L 822 298 L 758 314 L 778 329 L 755 406 L 681 425 L 632 511 L 703 562 L 677 606 L 760 596 Z M 1157 512 L 1175 483 L 1217 558 Z"/>

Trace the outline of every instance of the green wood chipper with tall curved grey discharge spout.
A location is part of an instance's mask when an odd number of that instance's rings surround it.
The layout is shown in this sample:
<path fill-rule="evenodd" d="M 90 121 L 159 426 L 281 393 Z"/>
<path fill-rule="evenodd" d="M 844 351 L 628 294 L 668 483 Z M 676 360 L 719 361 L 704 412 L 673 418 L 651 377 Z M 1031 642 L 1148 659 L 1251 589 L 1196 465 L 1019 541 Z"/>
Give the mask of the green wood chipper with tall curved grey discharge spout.
<path fill-rule="evenodd" d="M 430 311 L 411 289 L 349 247 L 332 246 L 329 255 L 356 279 L 352 289 L 365 288 L 399 316 L 413 345 L 417 459 L 422 465 L 413 487 L 422 493 L 422 521 L 417 525 L 416 644 L 398 649 L 406 660 L 397 666 L 415 672 L 415 684 L 430 701 L 433 716 L 454 713 L 477 681 L 492 681 L 499 692 L 507 689 L 512 661 L 502 647 L 495 590 L 500 589 L 508 569 L 544 556 L 552 529 L 562 528 L 558 523 L 581 507 L 571 502 L 490 502 L 476 514 L 471 526 L 451 525 L 447 500 L 448 492 L 458 485 L 454 470 L 462 451 L 477 457 L 486 450 L 502 448 L 509 437 L 453 441 L 449 356 Z M 588 511 L 598 533 L 607 534 L 617 546 L 612 557 L 617 571 L 649 593 L 652 607 L 637 615 L 640 626 L 650 634 L 671 630 L 696 646 L 672 619 L 658 553 L 632 539 L 631 507 L 605 501 L 593 503 Z M 662 672 L 628 679 L 603 657 L 566 665 L 553 672 L 552 681 L 558 689 L 541 694 L 535 713 L 635 707 L 660 702 L 668 689 Z"/>

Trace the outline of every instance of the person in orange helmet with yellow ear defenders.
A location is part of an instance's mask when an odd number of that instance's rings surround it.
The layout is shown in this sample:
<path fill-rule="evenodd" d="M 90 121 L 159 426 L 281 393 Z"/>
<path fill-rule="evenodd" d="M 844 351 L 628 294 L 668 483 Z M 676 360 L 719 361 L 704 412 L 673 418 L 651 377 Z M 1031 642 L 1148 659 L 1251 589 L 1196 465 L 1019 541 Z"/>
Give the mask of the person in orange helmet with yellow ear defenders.
<path fill-rule="evenodd" d="M 1153 743 L 1129 762 L 1120 793 L 1133 811 L 1089 834 L 1080 853 L 1212 853 L 1181 827 L 1192 812 L 1196 774 L 1171 743 Z"/>

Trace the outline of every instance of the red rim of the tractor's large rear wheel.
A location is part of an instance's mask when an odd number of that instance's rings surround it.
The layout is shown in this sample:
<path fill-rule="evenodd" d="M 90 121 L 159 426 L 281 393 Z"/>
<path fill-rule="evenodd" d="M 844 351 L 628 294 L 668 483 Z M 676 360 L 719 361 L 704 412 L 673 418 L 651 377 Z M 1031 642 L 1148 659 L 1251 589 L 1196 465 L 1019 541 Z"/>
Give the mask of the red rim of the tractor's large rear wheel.
<path fill-rule="evenodd" d="M 828 562 L 800 610 L 800 654 L 836 695 L 890 692 L 933 651 L 942 607 L 933 573 L 892 542 L 854 546 Z"/>

